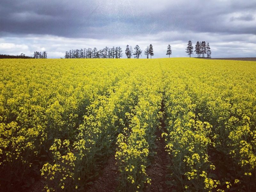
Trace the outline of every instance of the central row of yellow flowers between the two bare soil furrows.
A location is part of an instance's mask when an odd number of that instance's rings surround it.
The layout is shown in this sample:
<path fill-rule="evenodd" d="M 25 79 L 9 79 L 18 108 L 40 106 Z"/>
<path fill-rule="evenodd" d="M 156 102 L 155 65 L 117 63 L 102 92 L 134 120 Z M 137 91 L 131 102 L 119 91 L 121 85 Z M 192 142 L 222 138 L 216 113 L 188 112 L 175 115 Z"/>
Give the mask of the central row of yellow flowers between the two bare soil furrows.
<path fill-rule="evenodd" d="M 116 160 L 119 165 L 119 185 L 121 191 L 142 191 L 151 179 L 146 173 L 148 154 L 155 141 L 156 127 L 159 125 L 162 82 L 161 71 L 150 68 L 138 73 L 133 84 L 137 89 L 137 105 L 131 113 L 126 113 L 129 124 L 117 137 Z M 135 94 L 134 93 L 134 94 Z"/>

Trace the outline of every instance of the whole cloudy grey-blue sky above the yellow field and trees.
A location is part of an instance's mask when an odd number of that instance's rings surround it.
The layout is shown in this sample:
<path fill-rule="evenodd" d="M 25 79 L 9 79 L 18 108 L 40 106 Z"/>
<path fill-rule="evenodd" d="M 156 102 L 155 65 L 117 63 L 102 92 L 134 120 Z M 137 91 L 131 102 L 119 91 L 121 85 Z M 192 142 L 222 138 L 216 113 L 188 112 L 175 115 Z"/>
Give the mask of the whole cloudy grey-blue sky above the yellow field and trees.
<path fill-rule="evenodd" d="M 171 57 L 187 57 L 191 40 L 213 58 L 256 57 L 256 0 L 1 0 L 0 15 L 0 54 L 152 44 L 164 58 L 171 44 Z"/>

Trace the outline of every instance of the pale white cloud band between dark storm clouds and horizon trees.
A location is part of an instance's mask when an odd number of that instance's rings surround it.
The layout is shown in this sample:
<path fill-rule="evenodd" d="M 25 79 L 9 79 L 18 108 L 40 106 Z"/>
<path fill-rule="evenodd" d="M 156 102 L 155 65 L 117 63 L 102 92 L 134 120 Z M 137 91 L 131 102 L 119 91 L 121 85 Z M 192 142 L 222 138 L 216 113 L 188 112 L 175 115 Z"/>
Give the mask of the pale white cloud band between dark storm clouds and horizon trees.
<path fill-rule="evenodd" d="M 147 36 L 134 36 L 133 38 L 121 37 L 114 39 L 69 38 L 49 35 L 27 35 L 0 39 L 0 52 L 20 54 L 21 50 L 26 55 L 33 56 L 34 51 L 47 51 L 48 58 L 64 57 L 70 49 L 94 48 L 103 49 L 105 46 L 121 46 L 123 51 L 127 44 L 134 47 L 136 44 L 144 51 L 148 44 L 154 48 L 153 58 L 166 57 L 167 45 L 172 46 L 172 57 L 186 57 L 185 49 L 188 43 L 186 36 L 193 36 L 192 31 L 180 33 L 178 31 L 165 31 Z M 220 38 L 221 37 L 221 38 Z M 241 40 L 242 39 L 242 40 Z M 243 34 L 223 35 L 199 33 L 191 39 L 195 46 L 196 41 L 210 42 L 213 57 L 252 57 L 256 52 L 256 35 Z M 211 40 L 211 41 L 209 41 Z M 20 44 L 17 44 L 19 42 Z M 25 45 L 26 44 L 26 45 Z M 8 47 L 6 49 L 5 47 Z M 196 56 L 196 55 L 194 55 Z M 125 58 L 125 55 L 124 55 Z M 145 55 L 142 55 L 145 58 Z"/>

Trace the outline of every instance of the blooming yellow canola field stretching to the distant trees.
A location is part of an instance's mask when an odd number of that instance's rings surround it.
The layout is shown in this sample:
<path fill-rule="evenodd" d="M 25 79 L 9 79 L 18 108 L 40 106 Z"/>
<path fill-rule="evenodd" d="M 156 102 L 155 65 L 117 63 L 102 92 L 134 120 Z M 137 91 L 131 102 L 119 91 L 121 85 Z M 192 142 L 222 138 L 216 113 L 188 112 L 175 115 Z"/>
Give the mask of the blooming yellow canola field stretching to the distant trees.
<path fill-rule="evenodd" d="M 114 155 L 117 191 L 256 191 L 256 63 L 0 60 L 0 191 L 86 191 Z M 161 122 L 164 122 L 164 126 Z"/>

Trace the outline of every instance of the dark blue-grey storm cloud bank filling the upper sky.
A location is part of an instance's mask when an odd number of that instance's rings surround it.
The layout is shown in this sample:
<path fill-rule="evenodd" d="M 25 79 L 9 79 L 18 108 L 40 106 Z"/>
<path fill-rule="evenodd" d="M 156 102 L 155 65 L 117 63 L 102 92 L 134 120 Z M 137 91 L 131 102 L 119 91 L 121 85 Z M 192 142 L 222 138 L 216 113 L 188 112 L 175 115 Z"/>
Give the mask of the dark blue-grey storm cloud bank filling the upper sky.
<path fill-rule="evenodd" d="M 180 30 L 255 34 L 255 1 L 2 0 L 0 31 L 105 38 Z M 234 25 L 238 25 L 234 27 Z"/>

